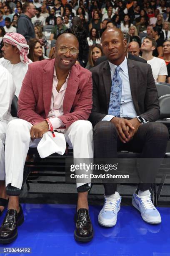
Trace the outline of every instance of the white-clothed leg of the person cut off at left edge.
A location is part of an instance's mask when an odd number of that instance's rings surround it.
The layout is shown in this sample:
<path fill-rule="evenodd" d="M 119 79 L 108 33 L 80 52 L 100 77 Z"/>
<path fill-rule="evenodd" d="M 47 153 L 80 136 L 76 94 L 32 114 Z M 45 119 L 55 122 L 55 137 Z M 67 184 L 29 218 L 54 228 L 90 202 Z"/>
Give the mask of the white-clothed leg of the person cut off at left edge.
<path fill-rule="evenodd" d="M 5 180 L 5 138 L 7 123 L 0 122 L 0 180 Z"/>

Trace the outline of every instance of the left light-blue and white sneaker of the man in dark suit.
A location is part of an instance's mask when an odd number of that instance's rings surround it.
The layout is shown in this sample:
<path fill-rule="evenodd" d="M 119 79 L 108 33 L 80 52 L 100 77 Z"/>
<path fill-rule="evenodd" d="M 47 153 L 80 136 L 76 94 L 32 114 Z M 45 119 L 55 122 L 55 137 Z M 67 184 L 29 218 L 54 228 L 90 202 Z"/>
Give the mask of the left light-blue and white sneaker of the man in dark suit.
<path fill-rule="evenodd" d="M 121 197 L 118 192 L 105 196 L 105 202 L 98 216 L 98 223 L 104 227 L 113 227 L 117 222 L 117 212 L 120 210 Z"/>

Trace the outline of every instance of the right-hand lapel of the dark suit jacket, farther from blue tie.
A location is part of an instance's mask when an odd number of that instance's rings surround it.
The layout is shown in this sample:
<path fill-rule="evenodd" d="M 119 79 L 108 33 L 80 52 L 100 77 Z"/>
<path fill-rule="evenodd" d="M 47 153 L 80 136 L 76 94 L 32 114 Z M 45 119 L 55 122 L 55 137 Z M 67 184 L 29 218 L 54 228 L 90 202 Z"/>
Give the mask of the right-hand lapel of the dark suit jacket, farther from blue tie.
<path fill-rule="evenodd" d="M 128 63 L 128 73 L 129 73 L 129 82 L 130 82 L 130 90 L 133 99 L 133 104 L 135 106 L 135 110 L 137 114 L 139 114 L 139 105 L 138 105 L 138 77 L 137 70 L 133 64 L 133 61 L 127 59 Z"/>

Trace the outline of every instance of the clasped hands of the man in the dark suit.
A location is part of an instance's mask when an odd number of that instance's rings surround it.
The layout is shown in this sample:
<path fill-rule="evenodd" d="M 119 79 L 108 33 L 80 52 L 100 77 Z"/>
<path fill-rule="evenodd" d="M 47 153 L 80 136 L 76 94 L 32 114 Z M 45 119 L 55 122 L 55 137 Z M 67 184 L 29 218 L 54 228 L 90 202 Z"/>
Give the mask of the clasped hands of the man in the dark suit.
<path fill-rule="evenodd" d="M 118 118 L 115 116 L 112 118 L 111 122 L 115 125 L 120 141 L 123 143 L 130 141 L 141 125 L 138 118 L 127 120 L 125 118 Z"/>

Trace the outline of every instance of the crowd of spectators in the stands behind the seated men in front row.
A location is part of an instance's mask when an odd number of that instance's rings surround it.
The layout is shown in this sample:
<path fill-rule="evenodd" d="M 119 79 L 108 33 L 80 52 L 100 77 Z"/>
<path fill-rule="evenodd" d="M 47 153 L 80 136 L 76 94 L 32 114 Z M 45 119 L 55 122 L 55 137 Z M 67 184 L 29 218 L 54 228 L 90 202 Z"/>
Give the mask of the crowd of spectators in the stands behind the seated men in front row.
<path fill-rule="evenodd" d="M 131 54 L 143 57 L 151 67 L 156 62 L 158 71 L 154 74 L 155 81 L 169 82 L 169 14 L 170 0 L 2 1 L 0 57 L 5 33 L 22 34 L 30 45 L 29 58 L 37 61 L 52 58 L 55 40 L 60 34 L 69 32 L 79 41 L 80 65 L 90 69 L 103 55 L 100 47 L 103 31 L 115 26 L 130 36 L 128 51 Z M 48 25 L 51 26 L 50 32 L 46 31 Z M 144 42 L 148 40 L 153 44 L 152 54 L 146 54 L 148 50 L 144 50 Z"/>

